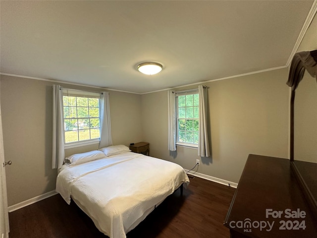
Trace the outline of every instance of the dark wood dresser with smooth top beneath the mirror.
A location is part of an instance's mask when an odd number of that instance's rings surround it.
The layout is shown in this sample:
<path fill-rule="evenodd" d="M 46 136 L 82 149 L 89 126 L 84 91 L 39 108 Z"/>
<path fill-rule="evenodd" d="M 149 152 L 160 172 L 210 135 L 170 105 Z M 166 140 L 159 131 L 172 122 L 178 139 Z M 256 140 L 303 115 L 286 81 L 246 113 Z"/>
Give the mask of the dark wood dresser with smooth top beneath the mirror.
<path fill-rule="evenodd" d="M 231 238 L 317 238 L 288 159 L 249 155 L 224 225 Z"/>

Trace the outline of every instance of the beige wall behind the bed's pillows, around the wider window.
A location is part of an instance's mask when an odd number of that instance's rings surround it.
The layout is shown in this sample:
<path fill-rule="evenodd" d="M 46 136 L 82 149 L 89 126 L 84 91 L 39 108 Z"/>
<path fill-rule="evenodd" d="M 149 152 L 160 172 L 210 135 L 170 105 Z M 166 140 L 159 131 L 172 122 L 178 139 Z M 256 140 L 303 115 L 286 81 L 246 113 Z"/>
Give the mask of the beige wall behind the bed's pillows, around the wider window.
<path fill-rule="evenodd" d="M 8 205 L 55 189 L 52 169 L 53 82 L 1 75 L 1 112 Z M 68 88 L 89 89 L 61 84 Z M 95 88 L 90 88 L 93 91 Z M 142 140 L 141 96 L 109 91 L 114 144 Z M 98 145 L 72 148 L 66 155 L 97 149 Z"/>

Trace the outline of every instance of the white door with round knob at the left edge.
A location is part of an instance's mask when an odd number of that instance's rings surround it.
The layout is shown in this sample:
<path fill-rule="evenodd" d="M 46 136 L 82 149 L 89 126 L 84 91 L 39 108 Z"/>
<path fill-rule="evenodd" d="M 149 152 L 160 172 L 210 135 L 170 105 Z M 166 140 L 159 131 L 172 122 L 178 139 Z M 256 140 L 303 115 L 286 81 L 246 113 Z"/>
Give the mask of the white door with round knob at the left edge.
<path fill-rule="evenodd" d="M 1 105 L 1 103 L 0 103 Z M 6 197 L 6 181 L 4 168 L 3 136 L 0 106 L 0 238 L 9 237 L 9 214 Z"/>

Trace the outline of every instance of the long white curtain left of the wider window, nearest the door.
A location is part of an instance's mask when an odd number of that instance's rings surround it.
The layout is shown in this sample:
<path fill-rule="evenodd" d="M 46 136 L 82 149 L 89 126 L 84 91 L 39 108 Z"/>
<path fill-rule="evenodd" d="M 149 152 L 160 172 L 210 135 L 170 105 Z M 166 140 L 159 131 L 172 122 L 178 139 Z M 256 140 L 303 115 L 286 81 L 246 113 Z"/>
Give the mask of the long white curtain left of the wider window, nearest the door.
<path fill-rule="evenodd" d="M 59 85 L 53 85 L 53 169 L 59 169 L 64 162 L 64 129 L 62 89 Z"/>

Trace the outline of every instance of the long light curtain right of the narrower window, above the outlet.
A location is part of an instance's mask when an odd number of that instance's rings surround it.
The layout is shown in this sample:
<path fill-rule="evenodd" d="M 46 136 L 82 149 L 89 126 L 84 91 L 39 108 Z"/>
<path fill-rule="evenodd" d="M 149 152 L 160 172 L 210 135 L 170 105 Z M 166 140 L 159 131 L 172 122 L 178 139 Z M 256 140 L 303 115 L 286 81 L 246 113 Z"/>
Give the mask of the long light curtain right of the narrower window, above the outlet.
<path fill-rule="evenodd" d="M 201 157 L 210 157 L 208 129 L 207 129 L 207 89 L 199 85 L 199 139 L 198 155 Z"/>

